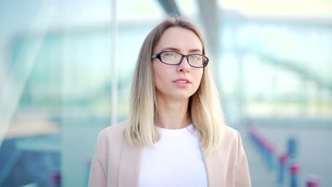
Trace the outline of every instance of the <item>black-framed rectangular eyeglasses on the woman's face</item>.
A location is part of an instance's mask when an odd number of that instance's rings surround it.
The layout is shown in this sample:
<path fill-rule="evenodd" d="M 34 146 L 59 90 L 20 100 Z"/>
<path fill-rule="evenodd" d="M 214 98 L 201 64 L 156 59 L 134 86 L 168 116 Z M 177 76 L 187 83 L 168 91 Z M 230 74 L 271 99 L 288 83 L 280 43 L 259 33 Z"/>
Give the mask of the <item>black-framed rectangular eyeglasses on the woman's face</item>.
<path fill-rule="evenodd" d="M 206 67 L 209 63 L 209 58 L 204 55 L 199 54 L 190 54 L 190 55 L 182 55 L 179 52 L 174 51 L 162 51 L 151 57 L 151 60 L 157 58 L 160 62 L 169 65 L 178 65 L 181 64 L 184 57 L 187 57 L 187 62 L 191 67 Z"/>

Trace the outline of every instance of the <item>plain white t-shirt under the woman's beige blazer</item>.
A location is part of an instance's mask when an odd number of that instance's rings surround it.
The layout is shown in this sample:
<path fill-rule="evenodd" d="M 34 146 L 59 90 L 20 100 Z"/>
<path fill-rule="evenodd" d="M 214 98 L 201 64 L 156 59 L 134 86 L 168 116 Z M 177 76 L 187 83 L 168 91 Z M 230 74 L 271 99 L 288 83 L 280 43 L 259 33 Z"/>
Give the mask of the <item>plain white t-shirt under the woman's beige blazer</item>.
<path fill-rule="evenodd" d="M 155 148 L 143 148 L 140 187 L 208 186 L 199 137 L 193 125 L 159 128 Z"/>

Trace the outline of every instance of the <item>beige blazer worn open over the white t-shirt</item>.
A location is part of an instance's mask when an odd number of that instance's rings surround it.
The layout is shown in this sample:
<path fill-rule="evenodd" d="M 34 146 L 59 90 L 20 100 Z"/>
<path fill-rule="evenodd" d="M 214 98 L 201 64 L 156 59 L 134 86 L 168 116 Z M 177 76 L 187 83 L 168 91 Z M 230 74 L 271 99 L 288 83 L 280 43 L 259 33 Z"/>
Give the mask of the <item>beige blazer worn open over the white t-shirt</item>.
<path fill-rule="evenodd" d="M 89 175 L 89 187 L 138 187 L 142 147 L 132 147 L 123 137 L 126 122 L 98 135 Z M 248 162 L 240 134 L 226 126 L 223 145 L 203 155 L 209 187 L 251 186 Z M 172 179 L 170 179 L 172 180 Z"/>

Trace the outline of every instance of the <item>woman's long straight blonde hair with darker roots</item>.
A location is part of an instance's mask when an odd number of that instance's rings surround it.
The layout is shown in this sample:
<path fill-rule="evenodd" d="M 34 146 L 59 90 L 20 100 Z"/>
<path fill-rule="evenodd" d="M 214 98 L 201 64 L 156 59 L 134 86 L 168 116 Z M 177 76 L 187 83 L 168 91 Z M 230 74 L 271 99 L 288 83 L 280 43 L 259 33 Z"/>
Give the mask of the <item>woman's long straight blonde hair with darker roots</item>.
<path fill-rule="evenodd" d="M 153 147 L 159 140 L 155 125 L 156 96 L 151 56 L 167 28 L 179 27 L 192 30 L 201 40 L 206 55 L 204 38 L 194 24 L 183 18 L 168 18 L 157 25 L 145 38 L 135 67 L 131 86 L 131 110 L 124 136 L 131 145 Z M 189 98 L 189 120 L 199 133 L 204 153 L 213 152 L 220 146 L 225 120 L 218 99 L 218 90 L 210 66 L 204 67 L 199 89 Z"/>

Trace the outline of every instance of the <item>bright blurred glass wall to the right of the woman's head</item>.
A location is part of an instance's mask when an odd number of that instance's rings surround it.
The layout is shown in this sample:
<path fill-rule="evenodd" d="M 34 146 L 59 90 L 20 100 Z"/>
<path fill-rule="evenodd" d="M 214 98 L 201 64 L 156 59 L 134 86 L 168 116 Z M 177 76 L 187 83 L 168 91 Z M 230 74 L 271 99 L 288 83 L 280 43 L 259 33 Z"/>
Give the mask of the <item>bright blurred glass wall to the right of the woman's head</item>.
<path fill-rule="evenodd" d="M 249 118 L 331 118 L 332 25 L 292 18 L 223 18 L 226 100 Z"/>

